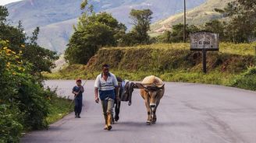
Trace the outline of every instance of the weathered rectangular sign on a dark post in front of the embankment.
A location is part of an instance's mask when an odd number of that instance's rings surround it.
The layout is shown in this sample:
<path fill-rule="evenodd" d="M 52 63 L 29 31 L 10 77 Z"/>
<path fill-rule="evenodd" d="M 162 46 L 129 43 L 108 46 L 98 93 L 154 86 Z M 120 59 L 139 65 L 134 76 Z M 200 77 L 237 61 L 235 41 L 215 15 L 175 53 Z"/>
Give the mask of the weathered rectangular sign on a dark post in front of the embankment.
<path fill-rule="evenodd" d="M 219 34 L 209 32 L 190 33 L 190 51 L 202 51 L 203 71 L 206 74 L 207 51 L 219 51 Z"/>

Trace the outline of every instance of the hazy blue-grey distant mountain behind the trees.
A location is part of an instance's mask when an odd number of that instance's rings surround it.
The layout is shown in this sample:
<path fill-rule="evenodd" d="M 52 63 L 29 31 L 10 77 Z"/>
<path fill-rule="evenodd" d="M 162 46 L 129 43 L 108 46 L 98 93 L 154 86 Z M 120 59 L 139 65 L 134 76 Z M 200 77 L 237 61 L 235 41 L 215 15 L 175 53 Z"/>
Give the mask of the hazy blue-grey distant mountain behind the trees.
<path fill-rule="evenodd" d="M 187 8 L 192 9 L 205 1 L 188 1 Z M 73 25 L 81 14 L 80 2 L 81 0 L 23 0 L 6 6 L 10 13 L 9 19 L 14 25 L 21 20 L 27 33 L 40 26 L 38 44 L 63 52 L 73 33 Z M 181 0 L 89 0 L 89 2 L 94 5 L 95 12 L 110 12 L 129 28 L 131 9 L 151 9 L 154 12 L 153 22 L 172 16 L 183 9 Z"/>

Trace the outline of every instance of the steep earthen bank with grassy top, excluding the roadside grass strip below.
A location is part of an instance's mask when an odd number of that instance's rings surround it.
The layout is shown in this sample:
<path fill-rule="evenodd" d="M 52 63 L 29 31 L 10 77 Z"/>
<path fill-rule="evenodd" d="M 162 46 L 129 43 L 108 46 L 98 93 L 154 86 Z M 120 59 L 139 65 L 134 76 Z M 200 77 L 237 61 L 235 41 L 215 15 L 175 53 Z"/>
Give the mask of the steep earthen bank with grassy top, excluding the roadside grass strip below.
<path fill-rule="evenodd" d="M 102 48 L 88 62 L 90 69 L 101 69 L 105 62 L 116 70 L 172 72 L 201 71 L 201 52 L 190 51 L 189 44 L 153 44 L 138 47 Z M 253 44 L 220 44 L 219 52 L 208 52 L 208 70 L 242 72 L 254 65 Z M 145 66 L 145 64 L 147 65 Z"/>

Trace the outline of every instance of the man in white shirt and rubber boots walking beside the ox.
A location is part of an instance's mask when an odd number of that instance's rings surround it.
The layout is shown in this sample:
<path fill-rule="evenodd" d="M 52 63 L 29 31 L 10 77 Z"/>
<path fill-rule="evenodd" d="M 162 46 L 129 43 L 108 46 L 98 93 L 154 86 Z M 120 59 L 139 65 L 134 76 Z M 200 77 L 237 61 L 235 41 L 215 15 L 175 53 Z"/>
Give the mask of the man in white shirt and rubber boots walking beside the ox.
<path fill-rule="evenodd" d="M 116 75 L 113 75 L 111 72 L 109 72 L 108 65 L 102 66 L 102 73 L 97 76 L 94 88 L 95 102 L 99 102 L 98 92 L 101 99 L 101 105 L 105 119 L 104 130 L 110 131 L 112 129 L 112 110 L 114 107 L 115 99 L 119 101 L 119 96 L 116 96 L 116 93 L 118 92 L 118 82 Z"/>

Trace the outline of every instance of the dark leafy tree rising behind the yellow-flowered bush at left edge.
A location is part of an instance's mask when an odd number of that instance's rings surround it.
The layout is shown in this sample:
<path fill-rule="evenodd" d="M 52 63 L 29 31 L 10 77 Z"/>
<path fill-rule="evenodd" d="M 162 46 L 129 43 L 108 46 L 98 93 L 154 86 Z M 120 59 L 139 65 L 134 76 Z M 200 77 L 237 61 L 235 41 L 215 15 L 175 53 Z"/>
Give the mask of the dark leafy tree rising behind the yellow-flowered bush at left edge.
<path fill-rule="evenodd" d="M 27 37 L 21 22 L 16 27 L 6 23 L 8 15 L 7 9 L 0 6 L 0 18 L 3 19 L 0 23 L 0 39 L 9 41 L 10 50 L 16 53 L 23 51 L 23 60 L 30 62 L 33 66 L 31 74 L 41 75 L 41 72 L 51 72 L 51 68 L 55 66 L 53 61 L 58 56 L 56 52 L 44 49 L 37 44 L 39 27 L 34 30 L 31 37 Z"/>

